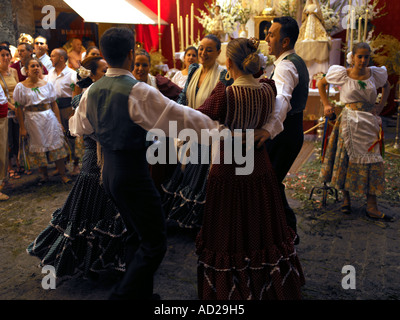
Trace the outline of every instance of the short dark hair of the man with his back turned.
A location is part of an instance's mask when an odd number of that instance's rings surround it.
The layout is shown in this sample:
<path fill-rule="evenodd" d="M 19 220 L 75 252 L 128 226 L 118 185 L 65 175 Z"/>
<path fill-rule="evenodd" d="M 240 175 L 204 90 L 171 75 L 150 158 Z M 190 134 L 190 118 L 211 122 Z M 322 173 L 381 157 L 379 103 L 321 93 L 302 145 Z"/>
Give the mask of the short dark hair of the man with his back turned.
<path fill-rule="evenodd" d="M 129 28 L 110 28 L 100 39 L 100 50 L 111 67 L 121 67 L 135 50 L 135 32 Z"/>

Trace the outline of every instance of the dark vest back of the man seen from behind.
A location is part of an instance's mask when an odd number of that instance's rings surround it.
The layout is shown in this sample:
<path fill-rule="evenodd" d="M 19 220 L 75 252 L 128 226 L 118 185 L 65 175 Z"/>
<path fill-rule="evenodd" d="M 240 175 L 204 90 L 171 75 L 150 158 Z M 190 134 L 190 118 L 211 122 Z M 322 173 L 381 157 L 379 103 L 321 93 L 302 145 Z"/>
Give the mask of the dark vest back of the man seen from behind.
<path fill-rule="evenodd" d="M 146 134 L 128 110 L 129 94 L 138 81 L 126 76 L 103 77 L 89 90 L 87 118 L 103 148 L 139 150 L 146 147 Z"/>

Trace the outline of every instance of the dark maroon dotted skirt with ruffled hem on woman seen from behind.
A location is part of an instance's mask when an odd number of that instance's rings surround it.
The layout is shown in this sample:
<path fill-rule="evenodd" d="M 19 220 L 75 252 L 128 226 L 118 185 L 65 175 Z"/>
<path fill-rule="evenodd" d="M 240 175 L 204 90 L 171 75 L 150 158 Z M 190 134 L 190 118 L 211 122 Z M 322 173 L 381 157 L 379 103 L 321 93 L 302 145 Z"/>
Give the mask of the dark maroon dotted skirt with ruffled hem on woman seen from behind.
<path fill-rule="evenodd" d="M 235 165 L 214 165 L 203 227 L 196 239 L 199 298 L 300 299 L 304 275 L 286 224 L 279 187 L 266 151 L 255 170 L 235 176 Z M 218 201 L 221 194 L 227 195 Z M 216 232 L 215 230 L 218 230 Z"/>

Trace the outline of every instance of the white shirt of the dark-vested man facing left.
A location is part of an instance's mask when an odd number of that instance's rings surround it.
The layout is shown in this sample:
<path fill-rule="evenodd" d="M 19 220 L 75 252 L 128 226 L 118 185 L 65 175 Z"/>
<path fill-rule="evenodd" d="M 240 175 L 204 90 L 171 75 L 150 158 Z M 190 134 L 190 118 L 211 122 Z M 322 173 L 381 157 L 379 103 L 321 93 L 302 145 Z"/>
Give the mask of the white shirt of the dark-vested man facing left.
<path fill-rule="evenodd" d="M 283 60 L 292 53 L 295 53 L 294 49 L 284 52 L 274 62 L 275 70 L 272 80 L 275 81 L 277 90 L 275 109 L 269 117 L 268 122 L 263 126 L 263 129 L 270 133 L 271 139 L 283 131 L 283 122 L 286 119 L 287 113 L 292 109 L 290 105 L 292 93 L 299 83 L 299 74 L 293 62 Z"/>

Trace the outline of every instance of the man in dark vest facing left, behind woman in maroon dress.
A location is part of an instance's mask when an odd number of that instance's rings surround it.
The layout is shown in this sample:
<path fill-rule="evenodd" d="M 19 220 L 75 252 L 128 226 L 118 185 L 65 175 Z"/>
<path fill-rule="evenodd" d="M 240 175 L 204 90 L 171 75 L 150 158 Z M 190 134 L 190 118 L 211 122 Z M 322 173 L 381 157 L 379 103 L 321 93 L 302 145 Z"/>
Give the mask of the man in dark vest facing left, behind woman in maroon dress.
<path fill-rule="evenodd" d="M 278 181 L 281 183 L 286 220 L 296 233 L 296 216 L 285 195 L 283 180 L 303 146 L 303 110 L 308 98 L 309 75 L 304 61 L 295 53 L 294 45 L 299 27 L 291 17 L 273 20 L 266 41 L 270 54 L 276 57 L 271 78 L 277 89 L 274 114 L 262 131 L 255 132 L 258 145 L 266 141 L 266 147 Z M 263 137 L 260 138 L 260 135 Z M 298 244 L 297 236 L 295 243 Z"/>

